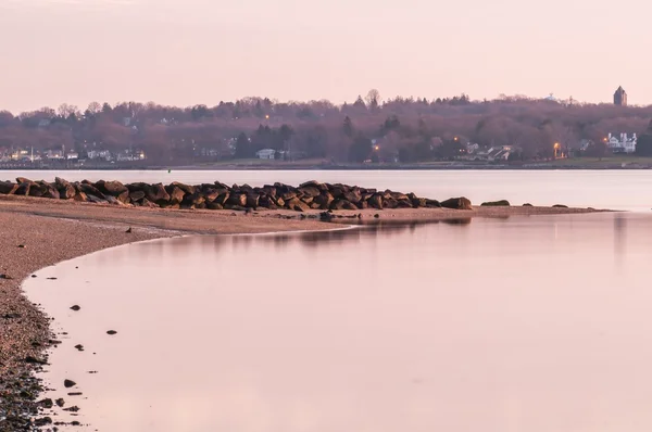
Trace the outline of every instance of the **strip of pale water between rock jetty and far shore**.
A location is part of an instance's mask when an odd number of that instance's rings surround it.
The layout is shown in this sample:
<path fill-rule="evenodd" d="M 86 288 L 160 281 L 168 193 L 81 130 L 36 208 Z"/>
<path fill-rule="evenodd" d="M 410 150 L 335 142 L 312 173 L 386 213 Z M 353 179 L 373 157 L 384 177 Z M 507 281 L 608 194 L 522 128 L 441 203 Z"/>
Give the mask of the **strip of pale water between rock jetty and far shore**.
<path fill-rule="evenodd" d="M 52 181 L 115 179 L 187 183 L 213 182 L 262 186 L 281 181 L 298 185 L 308 180 L 414 192 L 444 200 L 464 195 L 474 203 L 506 199 L 513 204 L 566 204 L 649 212 L 652 208 L 652 170 L 289 170 L 289 171 L 2 171 L 0 179 L 17 176 Z"/>

